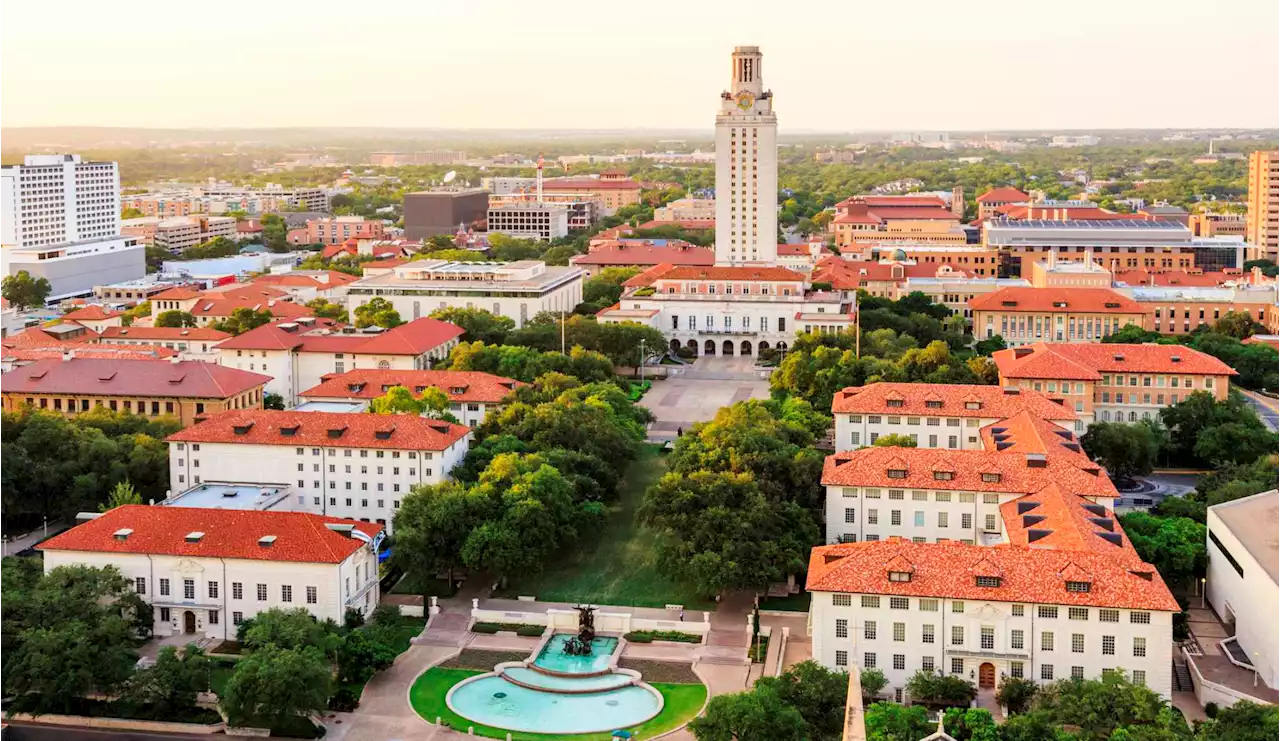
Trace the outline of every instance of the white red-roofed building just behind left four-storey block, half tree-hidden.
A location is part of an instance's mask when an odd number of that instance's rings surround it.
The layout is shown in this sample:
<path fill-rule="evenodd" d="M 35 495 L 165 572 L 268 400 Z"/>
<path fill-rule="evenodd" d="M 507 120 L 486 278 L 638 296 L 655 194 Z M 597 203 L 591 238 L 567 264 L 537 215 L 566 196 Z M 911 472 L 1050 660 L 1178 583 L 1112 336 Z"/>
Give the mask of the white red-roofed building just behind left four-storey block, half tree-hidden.
<path fill-rule="evenodd" d="M 323 376 L 298 398 L 301 402 L 367 404 L 393 386 L 404 386 L 413 395 L 434 388 L 448 394 L 449 412 L 460 422 L 475 427 L 490 411 L 502 410 L 511 393 L 522 385 L 526 384 L 479 371 L 360 369 Z"/>

